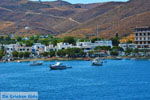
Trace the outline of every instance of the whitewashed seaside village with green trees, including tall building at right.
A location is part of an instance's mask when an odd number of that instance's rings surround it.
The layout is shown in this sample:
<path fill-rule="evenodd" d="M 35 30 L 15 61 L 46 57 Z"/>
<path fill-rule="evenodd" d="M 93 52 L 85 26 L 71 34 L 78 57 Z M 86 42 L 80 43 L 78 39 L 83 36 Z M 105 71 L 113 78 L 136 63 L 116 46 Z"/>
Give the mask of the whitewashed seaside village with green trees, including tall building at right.
<path fill-rule="evenodd" d="M 5 38 L 1 36 L 0 59 L 11 61 L 51 57 L 150 57 L 150 28 L 136 28 L 134 35 L 134 42 L 128 43 L 120 43 L 118 34 L 111 40 L 100 38 L 86 40 L 73 37 L 60 39 L 49 35 L 15 39 L 13 36 Z M 8 43 L 5 44 L 5 41 Z"/>

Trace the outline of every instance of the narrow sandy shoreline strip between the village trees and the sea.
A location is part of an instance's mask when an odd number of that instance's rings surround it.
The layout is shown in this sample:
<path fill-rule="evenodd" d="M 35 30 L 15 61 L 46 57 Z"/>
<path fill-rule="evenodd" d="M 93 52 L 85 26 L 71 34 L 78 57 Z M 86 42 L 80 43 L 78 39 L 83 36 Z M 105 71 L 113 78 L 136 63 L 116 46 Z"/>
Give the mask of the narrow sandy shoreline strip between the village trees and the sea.
<path fill-rule="evenodd" d="M 61 58 L 61 57 L 52 57 L 52 58 L 32 58 L 32 59 L 18 59 L 9 62 L 27 62 L 27 61 L 71 61 L 71 60 L 83 60 L 83 61 L 91 61 L 94 58 Z M 128 56 L 108 56 L 108 57 L 100 57 L 100 59 L 109 59 L 109 60 L 122 60 L 122 59 L 135 59 L 135 60 L 149 60 L 150 57 L 128 57 Z M 0 61 L 3 62 L 3 61 Z"/>

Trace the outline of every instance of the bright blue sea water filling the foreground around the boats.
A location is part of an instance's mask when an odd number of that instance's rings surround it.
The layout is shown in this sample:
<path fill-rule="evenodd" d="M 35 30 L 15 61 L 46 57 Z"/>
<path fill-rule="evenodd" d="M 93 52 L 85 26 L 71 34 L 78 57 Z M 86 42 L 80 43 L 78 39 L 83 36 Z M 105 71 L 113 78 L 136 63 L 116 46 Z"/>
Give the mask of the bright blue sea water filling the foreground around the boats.
<path fill-rule="evenodd" d="M 49 64 L 0 63 L 0 91 L 39 92 L 39 100 L 150 100 L 150 61 L 61 61 L 72 69 L 50 71 Z"/>

